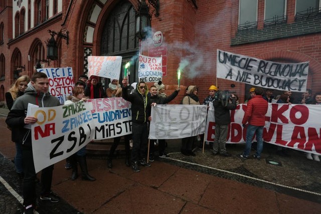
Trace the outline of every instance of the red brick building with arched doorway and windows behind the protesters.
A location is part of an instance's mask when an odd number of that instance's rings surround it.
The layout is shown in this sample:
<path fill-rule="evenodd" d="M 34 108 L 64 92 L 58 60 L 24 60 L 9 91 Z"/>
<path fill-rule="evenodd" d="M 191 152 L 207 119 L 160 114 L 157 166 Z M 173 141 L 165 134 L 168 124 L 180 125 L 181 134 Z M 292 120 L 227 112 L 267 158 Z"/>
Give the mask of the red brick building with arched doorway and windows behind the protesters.
<path fill-rule="evenodd" d="M 321 91 L 319 0 L 146 2 L 152 34 L 161 31 L 164 36 L 166 85 L 177 84 L 177 69 L 184 64 L 181 84 L 199 86 L 201 101 L 214 84 L 235 91 L 242 102 L 252 86 L 216 78 L 220 49 L 275 62 L 309 61 L 307 88 Z M 0 0 L 1 101 L 15 77 L 31 76 L 38 61 L 43 67 L 72 67 L 78 78 L 88 72 L 88 56 L 122 56 L 124 66 L 139 50 L 150 54 L 151 39 L 139 43 L 135 34 L 140 4 L 139 0 Z M 54 35 L 58 60 L 49 63 L 45 61 L 48 30 L 65 36 L 68 32 L 69 38 L 67 44 Z M 130 69 L 130 81 L 137 81 L 136 61 Z"/>

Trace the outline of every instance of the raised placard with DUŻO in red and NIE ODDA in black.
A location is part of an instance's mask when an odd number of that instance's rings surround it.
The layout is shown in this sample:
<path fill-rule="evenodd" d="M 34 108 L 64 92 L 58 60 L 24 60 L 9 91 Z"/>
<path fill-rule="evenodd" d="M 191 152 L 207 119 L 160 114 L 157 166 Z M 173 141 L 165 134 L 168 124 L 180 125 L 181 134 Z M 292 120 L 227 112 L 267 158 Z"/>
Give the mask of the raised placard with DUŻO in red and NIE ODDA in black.
<path fill-rule="evenodd" d="M 139 54 L 139 81 L 158 82 L 162 80 L 162 77 L 162 57 L 147 57 Z"/>

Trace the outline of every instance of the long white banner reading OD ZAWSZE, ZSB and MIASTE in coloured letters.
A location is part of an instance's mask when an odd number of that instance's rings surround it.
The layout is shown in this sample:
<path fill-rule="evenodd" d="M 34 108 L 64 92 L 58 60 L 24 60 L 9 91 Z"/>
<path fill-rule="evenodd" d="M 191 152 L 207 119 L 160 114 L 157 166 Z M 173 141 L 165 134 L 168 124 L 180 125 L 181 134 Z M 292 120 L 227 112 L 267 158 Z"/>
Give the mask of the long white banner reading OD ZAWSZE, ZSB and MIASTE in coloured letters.
<path fill-rule="evenodd" d="M 131 133 L 130 103 L 121 97 L 89 99 L 69 105 L 31 108 L 36 172 L 77 152 L 91 140 Z"/>

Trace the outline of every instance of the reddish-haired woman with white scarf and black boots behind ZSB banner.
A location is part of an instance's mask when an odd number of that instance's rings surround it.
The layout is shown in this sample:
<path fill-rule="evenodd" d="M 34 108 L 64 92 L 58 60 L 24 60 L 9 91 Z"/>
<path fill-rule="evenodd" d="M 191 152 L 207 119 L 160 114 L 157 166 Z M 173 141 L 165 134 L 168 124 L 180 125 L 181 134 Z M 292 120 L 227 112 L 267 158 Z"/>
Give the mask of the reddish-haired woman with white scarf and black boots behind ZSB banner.
<path fill-rule="evenodd" d="M 84 89 L 81 87 L 73 88 L 72 96 L 68 96 L 66 99 L 67 100 L 65 102 L 65 105 L 76 103 L 79 101 L 87 102 L 87 99 L 84 97 Z M 70 157 L 70 163 L 72 168 L 72 174 L 71 174 L 72 180 L 76 180 L 78 177 L 77 162 L 79 163 L 83 180 L 90 180 L 90 181 L 96 180 L 94 177 L 88 174 L 87 161 L 86 161 L 86 146 L 82 147 L 79 151 L 77 151 L 75 154 L 71 155 Z"/>

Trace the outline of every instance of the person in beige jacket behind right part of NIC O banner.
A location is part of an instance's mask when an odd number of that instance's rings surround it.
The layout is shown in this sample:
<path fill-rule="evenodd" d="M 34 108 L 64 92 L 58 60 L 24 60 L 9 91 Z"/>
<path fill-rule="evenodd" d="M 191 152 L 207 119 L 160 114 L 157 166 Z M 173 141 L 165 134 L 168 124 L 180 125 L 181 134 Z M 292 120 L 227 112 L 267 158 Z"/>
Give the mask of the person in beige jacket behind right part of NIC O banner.
<path fill-rule="evenodd" d="M 197 96 L 197 86 L 189 86 L 186 92 L 187 96 L 183 98 L 183 105 L 200 105 L 199 97 Z M 195 143 L 195 136 L 182 138 L 181 153 L 186 156 L 196 156 L 192 151 Z"/>

